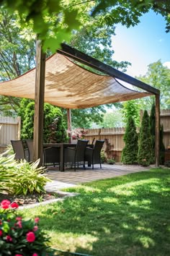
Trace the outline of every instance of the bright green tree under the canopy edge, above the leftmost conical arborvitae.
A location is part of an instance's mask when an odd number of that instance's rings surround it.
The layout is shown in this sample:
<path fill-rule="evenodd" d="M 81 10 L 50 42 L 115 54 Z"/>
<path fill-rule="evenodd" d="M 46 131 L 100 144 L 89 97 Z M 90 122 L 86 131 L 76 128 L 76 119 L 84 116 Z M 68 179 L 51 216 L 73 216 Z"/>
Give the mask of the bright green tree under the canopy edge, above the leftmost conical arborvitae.
<path fill-rule="evenodd" d="M 122 103 L 122 119 L 125 124 L 128 122 L 129 116 L 133 116 L 135 125 L 139 127 L 140 125 L 140 104 L 138 100 L 125 101 Z"/>

